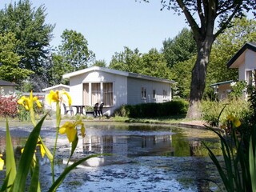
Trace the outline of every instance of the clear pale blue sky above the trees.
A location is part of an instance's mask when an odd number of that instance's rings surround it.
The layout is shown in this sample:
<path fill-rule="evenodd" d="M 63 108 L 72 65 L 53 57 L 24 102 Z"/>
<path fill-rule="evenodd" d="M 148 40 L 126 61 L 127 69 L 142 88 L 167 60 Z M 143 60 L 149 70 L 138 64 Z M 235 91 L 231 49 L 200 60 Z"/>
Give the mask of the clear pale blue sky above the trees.
<path fill-rule="evenodd" d="M 14 0 L 1 0 L 0 9 Z M 88 41 L 97 60 L 109 64 L 124 46 L 147 53 L 161 50 L 162 42 L 187 27 L 184 16 L 162 10 L 160 0 L 30 0 L 32 7 L 45 6 L 46 23 L 55 25 L 51 46 L 59 46 L 63 30 L 76 30 Z"/>

